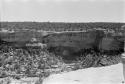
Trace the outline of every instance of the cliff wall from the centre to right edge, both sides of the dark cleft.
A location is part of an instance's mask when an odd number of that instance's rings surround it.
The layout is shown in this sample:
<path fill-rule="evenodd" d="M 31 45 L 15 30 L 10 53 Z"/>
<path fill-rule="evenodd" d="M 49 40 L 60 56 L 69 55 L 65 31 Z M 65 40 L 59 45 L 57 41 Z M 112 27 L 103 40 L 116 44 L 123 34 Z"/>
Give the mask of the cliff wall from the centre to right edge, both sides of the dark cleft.
<path fill-rule="evenodd" d="M 47 44 L 48 48 L 56 48 L 56 52 L 59 51 L 60 54 L 69 55 L 81 49 L 120 50 L 124 48 L 123 38 L 123 36 L 108 35 L 102 30 L 91 30 L 49 34 L 43 37 L 43 42 Z"/>

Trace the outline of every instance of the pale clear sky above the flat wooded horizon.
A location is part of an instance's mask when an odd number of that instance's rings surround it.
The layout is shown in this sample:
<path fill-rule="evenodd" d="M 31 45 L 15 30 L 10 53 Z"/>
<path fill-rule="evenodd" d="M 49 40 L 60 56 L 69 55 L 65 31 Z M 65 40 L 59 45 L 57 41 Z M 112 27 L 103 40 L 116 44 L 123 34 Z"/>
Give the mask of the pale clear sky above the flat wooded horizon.
<path fill-rule="evenodd" d="M 0 20 L 125 22 L 125 0 L 0 0 Z"/>

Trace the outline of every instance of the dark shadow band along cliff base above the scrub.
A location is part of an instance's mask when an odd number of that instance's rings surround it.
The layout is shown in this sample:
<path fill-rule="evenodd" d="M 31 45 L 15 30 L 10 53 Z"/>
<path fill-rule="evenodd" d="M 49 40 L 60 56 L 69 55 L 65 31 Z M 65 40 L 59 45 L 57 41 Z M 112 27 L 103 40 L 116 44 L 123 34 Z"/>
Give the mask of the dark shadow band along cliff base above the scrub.
<path fill-rule="evenodd" d="M 120 55 L 124 52 L 124 49 L 118 49 L 118 50 L 100 50 L 97 51 L 95 49 L 80 49 L 79 51 L 74 51 L 71 47 L 50 47 L 48 48 L 48 51 L 51 53 L 54 53 L 56 56 L 61 56 L 62 59 L 67 62 L 71 63 L 73 61 L 77 61 L 80 57 L 85 57 L 88 54 L 91 56 L 97 56 L 100 57 L 100 55 Z"/>

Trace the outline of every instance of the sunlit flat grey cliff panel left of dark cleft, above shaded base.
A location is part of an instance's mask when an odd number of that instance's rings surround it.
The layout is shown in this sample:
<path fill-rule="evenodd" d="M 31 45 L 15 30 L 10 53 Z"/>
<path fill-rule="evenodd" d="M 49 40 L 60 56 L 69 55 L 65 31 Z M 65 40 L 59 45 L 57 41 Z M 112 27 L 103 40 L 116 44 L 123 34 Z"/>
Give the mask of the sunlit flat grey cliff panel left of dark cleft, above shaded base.
<path fill-rule="evenodd" d="M 54 33 L 44 38 L 44 42 L 51 47 L 91 48 L 91 44 L 95 42 L 96 36 L 95 32 Z"/>

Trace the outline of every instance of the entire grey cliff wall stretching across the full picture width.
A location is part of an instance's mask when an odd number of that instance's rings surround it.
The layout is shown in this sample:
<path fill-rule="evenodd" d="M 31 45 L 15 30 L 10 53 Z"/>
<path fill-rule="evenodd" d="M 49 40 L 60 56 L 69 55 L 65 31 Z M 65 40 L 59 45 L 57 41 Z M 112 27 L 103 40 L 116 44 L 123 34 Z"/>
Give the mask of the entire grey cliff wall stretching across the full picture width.
<path fill-rule="evenodd" d="M 15 47 L 26 47 L 26 44 L 32 43 L 31 39 L 35 38 L 36 44 L 46 44 L 48 49 L 55 49 L 55 52 L 61 55 L 73 55 L 82 49 L 96 51 L 124 49 L 124 35 L 107 34 L 103 30 L 47 32 L 46 35 L 42 33 L 44 32 L 0 33 L 0 38 Z"/>

